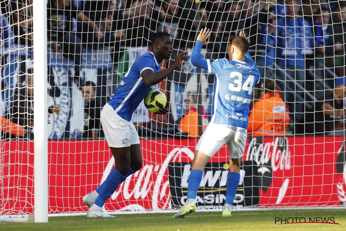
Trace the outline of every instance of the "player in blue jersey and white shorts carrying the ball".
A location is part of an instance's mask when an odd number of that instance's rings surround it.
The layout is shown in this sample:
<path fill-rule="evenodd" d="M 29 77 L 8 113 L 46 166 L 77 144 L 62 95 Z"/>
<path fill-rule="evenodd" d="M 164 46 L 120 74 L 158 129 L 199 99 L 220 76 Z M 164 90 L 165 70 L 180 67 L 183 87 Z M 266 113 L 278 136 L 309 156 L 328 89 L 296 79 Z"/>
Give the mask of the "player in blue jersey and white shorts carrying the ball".
<path fill-rule="evenodd" d="M 139 137 L 131 117 L 151 86 L 164 80 L 178 68 L 187 57 L 182 52 L 169 68 L 160 71 L 160 63 L 172 55 L 172 38 L 166 32 L 156 32 L 152 38 L 152 52 L 137 57 L 121 80 L 119 87 L 101 110 L 101 123 L 108 146 L 114 156 L 115 168 L 107 179 L 93 192 L 83 196 L 82 201 L 90 208 L 87 217 L 112 217 L 102 207 L 128 176 L 142 168 Z M 157 114 L 167 114 L 169 101 Z"/>

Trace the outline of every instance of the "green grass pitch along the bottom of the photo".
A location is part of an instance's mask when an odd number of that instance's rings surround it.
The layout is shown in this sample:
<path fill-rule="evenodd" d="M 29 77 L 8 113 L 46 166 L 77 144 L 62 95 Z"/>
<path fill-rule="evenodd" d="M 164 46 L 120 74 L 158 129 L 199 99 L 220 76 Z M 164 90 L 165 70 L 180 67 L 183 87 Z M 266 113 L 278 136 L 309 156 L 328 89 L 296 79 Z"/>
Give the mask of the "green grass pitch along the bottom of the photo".
<path fill-rule="evenodd" d="M 304 209 L 234 211 L 232 217 L 221 212 L 196 212 L 184 219 L 172 219 L 173 213 L 121 214 L 114 218 L 86 216 L 49 217 L 48 223 L 0 223 L 1 231 L 67 231 L 67 230 L 346 230 L 346 209 Z M 334 217 L 337 224 L 275 224 L 275 217 Z M 290 221 L 291 222 L 291 221 Z"/>

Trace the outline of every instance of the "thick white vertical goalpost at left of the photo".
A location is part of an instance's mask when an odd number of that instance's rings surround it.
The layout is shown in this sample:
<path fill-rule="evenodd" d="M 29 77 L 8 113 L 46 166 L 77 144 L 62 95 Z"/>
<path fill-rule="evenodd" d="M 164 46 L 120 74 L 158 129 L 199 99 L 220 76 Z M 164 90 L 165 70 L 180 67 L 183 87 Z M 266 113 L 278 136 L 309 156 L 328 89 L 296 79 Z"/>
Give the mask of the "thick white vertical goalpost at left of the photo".
<path fill-rule="evenodd" d="M 48 222 L 47 1 L 35 0 L 34 17 L 34 222 Z"/>

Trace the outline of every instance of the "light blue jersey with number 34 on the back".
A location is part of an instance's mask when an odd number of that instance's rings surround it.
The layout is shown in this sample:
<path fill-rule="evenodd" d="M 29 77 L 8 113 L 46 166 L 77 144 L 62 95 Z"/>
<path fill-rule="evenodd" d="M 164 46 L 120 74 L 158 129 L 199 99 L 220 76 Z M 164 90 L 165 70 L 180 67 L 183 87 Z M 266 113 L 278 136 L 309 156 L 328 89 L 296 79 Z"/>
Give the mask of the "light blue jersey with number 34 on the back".
<path fill-rule="evenodd" d="M 210 123 L 247 129 L 251 95 L 261 74 L 249 53 L 245 61 L 207 59 L 208 71 L 215 73 Z"/>

